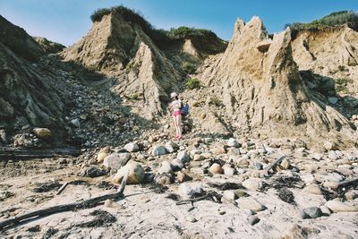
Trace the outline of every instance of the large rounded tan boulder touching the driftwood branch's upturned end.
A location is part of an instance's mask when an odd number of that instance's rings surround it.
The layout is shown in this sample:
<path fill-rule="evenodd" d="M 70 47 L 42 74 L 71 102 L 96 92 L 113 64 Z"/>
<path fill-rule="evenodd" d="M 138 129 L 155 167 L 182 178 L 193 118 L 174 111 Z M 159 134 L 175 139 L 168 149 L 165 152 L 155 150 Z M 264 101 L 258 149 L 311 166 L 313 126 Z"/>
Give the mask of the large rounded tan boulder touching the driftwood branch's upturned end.
<path fill-rule="evenodd" d="M 114 183 L 120 184 L 126 174 L 128 174 L 127 184 L 141 184 L 145 177 L 145 171 L 141 164 L 130 161 L 118 170 L 113 179 Z"/>

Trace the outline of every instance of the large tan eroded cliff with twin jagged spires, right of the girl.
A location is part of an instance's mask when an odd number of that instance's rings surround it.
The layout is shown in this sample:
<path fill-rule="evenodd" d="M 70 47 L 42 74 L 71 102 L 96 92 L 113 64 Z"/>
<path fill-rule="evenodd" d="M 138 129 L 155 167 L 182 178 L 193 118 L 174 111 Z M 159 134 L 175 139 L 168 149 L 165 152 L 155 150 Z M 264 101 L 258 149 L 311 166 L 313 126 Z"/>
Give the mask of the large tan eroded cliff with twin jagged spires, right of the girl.
<path fill-rule="evenodd" d="M 238 20 L 226 52 L 204 73 L 201 81 L 215 89 L 236 131 L 258 132 L 261 137 L 319 135 L 350 132 L 345 116 L 329 107 L 325 98 L 308 90 L 294 62 L 289 29 L 274 36 L 260 51 L 268 34 L 259 18 Z M 320 137 L 320 136 L 319 136 Z"/>

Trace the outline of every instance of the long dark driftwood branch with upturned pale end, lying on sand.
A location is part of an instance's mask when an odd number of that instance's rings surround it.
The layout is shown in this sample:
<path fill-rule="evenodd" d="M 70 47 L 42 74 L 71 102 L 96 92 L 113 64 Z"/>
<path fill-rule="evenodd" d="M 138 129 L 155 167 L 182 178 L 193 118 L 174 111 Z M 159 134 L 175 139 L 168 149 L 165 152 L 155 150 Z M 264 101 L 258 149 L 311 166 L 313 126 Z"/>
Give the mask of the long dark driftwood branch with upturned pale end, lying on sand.
<path fill-rule="evenodd" d="M 9 218 L 7 220 L 0 222 L 0 230 L 4 229 L 7 226 L 16 226 L 17 224 L 21 223 L 21 221 L 24 221 L 24 220 L 27 220 L 30 218 L 40 218 L 40 217 L 49 216 L 51 214 L 55 214 L 58 212 L 70 211 L 72 209 L 88 209 L 91 207 L 95 207 L 98 205 L 99 202 L 106 201 L 108 199 L 112 199 L 112 200 L 123 199 L 124 198 L 124 188 L 125 188 L 125 185 L 127 184 L 127 179 L 128 179 L 128 174 L 124 176 L 122 184 L 119 187 L 117 192 L 98 196 L 96 198 L 89 199 L 86 201 L 79 201 L 79 202 L 73 202 L 73 203 L 64 204 L 64 205 L 57 205 L 57 206 L 50 207 L 47 209 L 40 209 L 37 211 L 26 213 L 26 214 L 18 216 L 18 217 Z"/>

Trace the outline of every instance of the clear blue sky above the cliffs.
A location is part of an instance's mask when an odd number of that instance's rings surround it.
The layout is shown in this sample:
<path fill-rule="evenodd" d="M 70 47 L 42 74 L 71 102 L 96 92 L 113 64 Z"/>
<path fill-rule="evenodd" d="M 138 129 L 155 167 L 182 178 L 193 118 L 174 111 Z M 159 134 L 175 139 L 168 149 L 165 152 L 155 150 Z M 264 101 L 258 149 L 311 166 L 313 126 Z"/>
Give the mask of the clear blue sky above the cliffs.
<path fill-rule="evenodd" d="M 287 22 L 312 21 L 328 13 L 358 10 L 357 0 L 0 0 L 0 14 L 32 36 L 46 37 L 66 46 L 90 30 L 90 14 L 100 7 L 124 4 L 140 11 L 157 28 L 182 25 L 213 30 L 230 39 L 238 17 L 258 15 L 268 31 Z"/>

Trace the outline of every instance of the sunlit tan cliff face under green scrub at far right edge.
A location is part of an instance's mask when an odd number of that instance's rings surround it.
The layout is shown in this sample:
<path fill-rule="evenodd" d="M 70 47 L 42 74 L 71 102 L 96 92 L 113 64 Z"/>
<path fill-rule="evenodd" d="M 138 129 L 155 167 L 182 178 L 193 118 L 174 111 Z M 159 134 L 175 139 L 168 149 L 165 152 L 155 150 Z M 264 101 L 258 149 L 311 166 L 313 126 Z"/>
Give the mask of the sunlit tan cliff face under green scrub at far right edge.
<path fill-rule="evenodd" d="M 321 30 L 300 30 L 293 35 L 293 56 L 300 70 L 310 70 L 332 78 L 337 82 L 340 94 L 357 95 L 357 31 L 347 26 L 337 26 Z"/>

